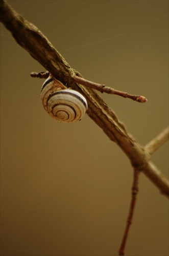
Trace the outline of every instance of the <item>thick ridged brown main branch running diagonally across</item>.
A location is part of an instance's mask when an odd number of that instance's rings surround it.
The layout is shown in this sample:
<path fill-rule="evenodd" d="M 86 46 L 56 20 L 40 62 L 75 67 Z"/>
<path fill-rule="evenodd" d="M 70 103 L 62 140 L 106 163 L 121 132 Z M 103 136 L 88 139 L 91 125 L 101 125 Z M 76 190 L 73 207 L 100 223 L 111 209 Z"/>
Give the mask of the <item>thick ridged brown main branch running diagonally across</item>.
<path fill-rule="evenodd" d="M 3 0 L 0 2 L 0 10 L 0 21 L 11 31 L 17 43 L 56 79 L 63 84 L 67 83 L 69 87 L 85 96 L 89 117 L 124 151 L 134 169 L 142 171 L 160 189 L 161 193 L 168 197 L 168 182 L 149 162 L 149 156 L 144 148 L 136 143 L 103 99 L 91 88 L 75 82 L 74 77 L 78 75 L 78 72 L 68 65 L 62 55 L 33 24 L 23 19 Z"/>

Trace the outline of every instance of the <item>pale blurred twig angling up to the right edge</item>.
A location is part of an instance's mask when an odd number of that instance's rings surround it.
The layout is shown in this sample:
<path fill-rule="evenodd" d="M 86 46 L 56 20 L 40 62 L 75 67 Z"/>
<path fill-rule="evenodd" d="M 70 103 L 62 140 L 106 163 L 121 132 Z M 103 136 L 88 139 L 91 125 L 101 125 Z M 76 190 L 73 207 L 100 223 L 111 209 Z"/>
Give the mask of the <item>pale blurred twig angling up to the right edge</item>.
<path fill-rule="evenodd" d="M 144 146 L 145 151 L 152 155 L 158 148 L 169 139 L 169 127 L 166 127 L 157 137 Z"/>

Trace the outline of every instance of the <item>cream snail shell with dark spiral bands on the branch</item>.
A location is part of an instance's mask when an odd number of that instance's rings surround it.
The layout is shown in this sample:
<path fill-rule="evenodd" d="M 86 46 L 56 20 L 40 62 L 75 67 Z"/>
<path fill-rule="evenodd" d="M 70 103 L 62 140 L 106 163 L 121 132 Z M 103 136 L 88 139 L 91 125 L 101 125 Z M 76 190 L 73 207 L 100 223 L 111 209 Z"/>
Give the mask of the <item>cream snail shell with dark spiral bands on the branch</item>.
<path fill-rule="evenodd" d="M 79 121 L 87 111 L 85 97 L 75 90 L 67 89 L 52 75 L 44 81 L 40 97 L 45 111 L 60 122 Z"/>

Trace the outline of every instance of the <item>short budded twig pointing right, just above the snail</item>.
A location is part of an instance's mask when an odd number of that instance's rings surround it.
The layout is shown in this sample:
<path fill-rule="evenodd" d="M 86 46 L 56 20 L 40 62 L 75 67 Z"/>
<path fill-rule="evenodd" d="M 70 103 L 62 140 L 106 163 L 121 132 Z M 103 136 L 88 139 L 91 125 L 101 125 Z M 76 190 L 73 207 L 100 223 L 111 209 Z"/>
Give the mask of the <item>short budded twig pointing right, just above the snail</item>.
<path fill-rule="evenodd" d="M 128 93 L 125 93 L 125 92 L 117 91 L 117 90 L 115 90 L 111 87 L 106 87 L 105 84 L 99 84 L 99 83 L 91 82 L 91 81 L 88 81 L 88 80 L 86 80 L 82 77 L 79 77 L 79 76 L 74 76 L 73 81 L 78 82 L 78 83 L 82 84 L 83 86 L 87 86 L 87 87 L 90 87 L 92 89 L 98 90 L 101 93 L 115 94 L 115 95 L 118 95 L 118 96 L 122 96 L 124 98 L 130 98 L 130 99 L 135 100 L 135 101 L 140 102 L 140 103 L 147 102 L 147 99 L 143 96 L 131 95 L 131 94 L 128 94 Z"/>

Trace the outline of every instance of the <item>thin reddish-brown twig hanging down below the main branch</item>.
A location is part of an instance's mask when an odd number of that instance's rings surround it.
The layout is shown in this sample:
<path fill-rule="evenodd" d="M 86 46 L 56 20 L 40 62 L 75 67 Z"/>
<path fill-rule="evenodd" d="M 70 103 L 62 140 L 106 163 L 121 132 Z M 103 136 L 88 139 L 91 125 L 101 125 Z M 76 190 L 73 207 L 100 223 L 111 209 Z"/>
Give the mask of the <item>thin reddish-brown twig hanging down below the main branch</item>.
<path fill-rule="evenodd" d="M 133 176 L 133 186 L 132 186 L 132 197 L 131 197 L 131 203 L 130 203 L 130 209 L 129 209 L 129 215 L 127 218 L 127 224 L 124 232 L 124 236 L 122 239 L 122 243 L 120 245 L 120 248 L 118 250 L 118 255 L 125 255 L 125 247 L 126 242 L 129 234 L 129 229 L 132 224 L 134 209 L 135 209 L 135 203 L 137 199 L 138 194 L 138 178 L 139 178 L 140 172 L 137 169 L 134 169 L 134 176 Z"/>

